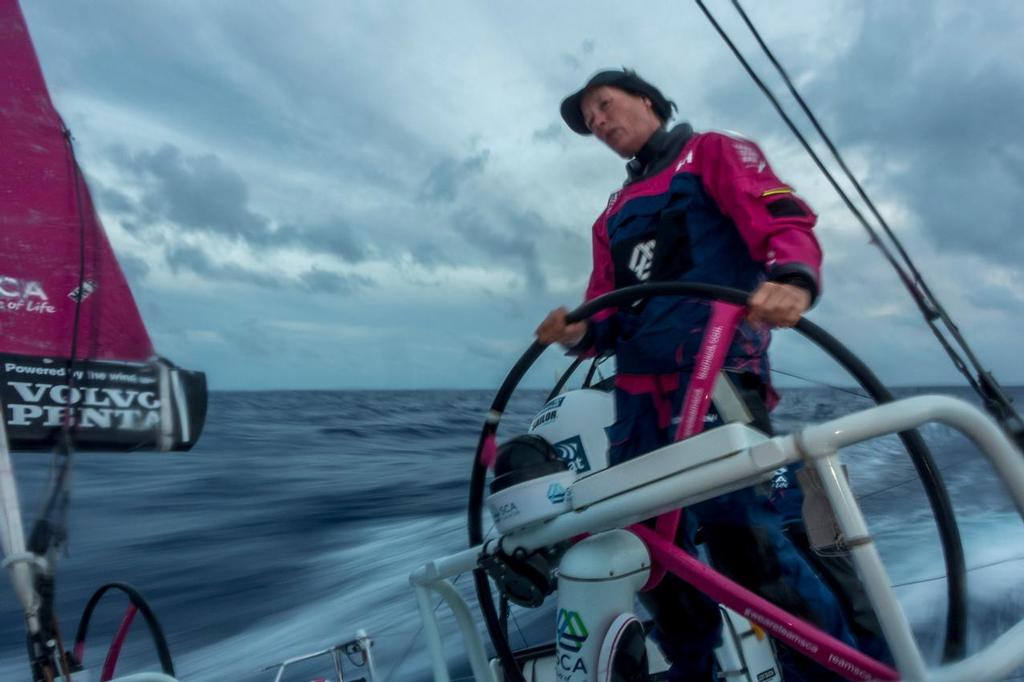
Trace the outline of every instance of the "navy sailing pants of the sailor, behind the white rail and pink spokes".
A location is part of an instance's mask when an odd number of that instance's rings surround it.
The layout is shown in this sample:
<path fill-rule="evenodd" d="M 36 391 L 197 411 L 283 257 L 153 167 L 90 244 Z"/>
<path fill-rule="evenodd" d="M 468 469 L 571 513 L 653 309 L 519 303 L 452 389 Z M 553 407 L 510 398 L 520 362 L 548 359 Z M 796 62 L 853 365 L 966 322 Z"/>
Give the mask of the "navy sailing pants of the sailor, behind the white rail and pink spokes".
<path fill-rule="evenodd" d="M 741 397 L 755 417 L 754 425 L 770 433 L 768 412 L 759 389 L 743 385 L 743 381 L 738 383 Z M 616 419 L 607 429 L 611 465 L 671 442 L 676 425 L 666 415 L 679 414 L 686 382 L 680 381 L 679 386 L 663 394 L 616 389 Z M 705 429 L 718 424 L 712 411 Z M 835 595 L 783 532 L 782 515 L 769 501 L 767 491 L 744 488 L 687 508 L 676 543 L 691 554 L 696 554 L 697 544 L 702 543 L 717 570 L 853 644 Z M 721 642 L 722 628 L 718 604 L 671 573 L 641 598 L 654 617 L 662 649 L 673 664 L 668 679 L 714 680 L 714 648 Z M 782 649 L 779 647 L 779 657 L 786 680 L 842 679 Z"/>

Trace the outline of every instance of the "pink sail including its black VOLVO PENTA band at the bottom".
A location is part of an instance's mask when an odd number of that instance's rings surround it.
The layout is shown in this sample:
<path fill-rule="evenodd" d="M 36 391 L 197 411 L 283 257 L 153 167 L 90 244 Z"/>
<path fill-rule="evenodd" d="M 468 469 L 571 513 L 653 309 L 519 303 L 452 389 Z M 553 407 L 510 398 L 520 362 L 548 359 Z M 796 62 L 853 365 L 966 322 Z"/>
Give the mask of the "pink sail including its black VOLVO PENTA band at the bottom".
<path fill-rule="evenodd" d="M 187 450 L 206 418 L 206 377 L 154 351 L 16 0 L 0 0 L 0 406 L 19 450 Z"/>

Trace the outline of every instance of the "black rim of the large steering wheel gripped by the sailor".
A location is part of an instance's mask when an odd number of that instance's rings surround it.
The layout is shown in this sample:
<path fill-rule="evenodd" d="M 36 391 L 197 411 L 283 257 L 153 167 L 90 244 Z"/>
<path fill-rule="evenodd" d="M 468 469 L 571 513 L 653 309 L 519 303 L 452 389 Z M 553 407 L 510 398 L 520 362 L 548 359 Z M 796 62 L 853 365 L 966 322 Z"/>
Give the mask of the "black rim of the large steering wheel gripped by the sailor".
<path fill-rule="evenodd" d="M 636 300 L 653 296 L 692 296 L 701 299 L 723 301 L 734 305 L 745 305 L 750 294 L 738 289 L 716 285 L 688 282 L 650 283 L 625 287 L 599 296 L 569 312 L 565 319 L 569 324 L 582 322 L 593 316 L 600 310 L 611 307 L 625 307 Z M 876 402 L 884 403 L 893 400 L 892 394 L 867 366 L 830 334 L 806 318 L 801 319 L 794 329 L 820 347 L 849 372 Z M 505 377 L 505 381 L 498 389 L 498 393 L 490 403 L 490 413 L 480 433 L 476 454 L 473 458 L 473 471 L 470 476 L 470 547 L 476 547 L 483 542 L 481 516 L 483 513 L 483 488 L 486 468 L 481 461 L 481 454 L 483 453 L 484 444 L 488 438 L 497 433 L 501 415 L 508 406 L 509 398 L 522 380 L 522 377 L 526 374 L 526 371 L 529 370 L 544 350 L 545 346 L 535 341 L 515 364 L 508 376 Z M 903 431 L 899 435 L 910 455 L 914 468 L 918 470 L 918 475 L 921 476 L 925 492 L 928 495 L 929 504 L 935 514 L 939 529 L 939 539 L 942 543 L 942 552 L 948 577 L 947 597 L 949 600 L 949 610 L 946 624 L 946 650 L 948 651 L 955 649 L 957 646 L 963 647 L 963 643 L 966 642 L 967 567 L 964 561 L 964 547 L 961 543 L 959 530 L 956 526 L 956 519 L 953 514 L 952 505 L 949 502 L 948 493 L 942 481 L 939 469 L 936 467 L 931 453 L 929 453 L 928 446 L 925 444 L 924 438 L 921 437 L 921 434 L 916 430 Z M 476 595 L 480 602 L 480 612 L 483 614 L 487 633 L 495 645 L 495 650 L 502 660 L 506 679 L 511 680 L 511 682 L 524 682 L 522 672 L 519 670 L 519 666 L 512 653 L 512 648 L 502 634 L 501 624 L 498 613 L 495 610 L 494 596 L 490 592 L 490 585 L 487 583 L 486 573 L 482 568 L 476 568 L 473 571 L 473 580 L 476 583 Z"/>

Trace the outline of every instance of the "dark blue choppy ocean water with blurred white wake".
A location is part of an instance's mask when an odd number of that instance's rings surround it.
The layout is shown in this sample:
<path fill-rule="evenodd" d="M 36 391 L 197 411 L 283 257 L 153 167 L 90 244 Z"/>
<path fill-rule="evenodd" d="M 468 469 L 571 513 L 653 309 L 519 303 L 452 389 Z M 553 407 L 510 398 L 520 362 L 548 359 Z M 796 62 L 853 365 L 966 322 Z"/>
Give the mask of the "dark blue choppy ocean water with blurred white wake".
<path fill-rule="evenodd" d="M 901 391 L 919 392 L 926 391 Z M 941 392 L 970 399 L 968 391 Z M 1012 393 L 1024 398 L 1024 389 Z M 500 436 L 524 431 L 544 397 L 520 392 Z M 206 431 L 190 453 L 78 457 L 57 581 L 69 646 L 92 591 L 123 581 L 156 610 L 182 680 L 272 680 L 261 669 L 348 640 L 359 628 L 375 639 L 380 680 L 428 679 L 408 576 L 466 546 L 467 481 L 492 398 L 488 391 L 214 392 Z M 833 389 L 786 389 L 775 420 L 788 430 L 867 404 Z M 924 435 L 961 519 L 971 568 L 969 645 L 978 650 L 1024 617 L 1024 522 L 972 444 L 937 425 Z M 900 601 L 936 662 L 943 566 L 913 468 L 895 438 L 843 458 Z M 50 458 L 16 454 L 14 468 L 30 522 Z M 462 577 L 457 588 L 470 595 L 471 583 Z M 110 598 L 95 614 L 86 651 L 95 670 L 76 680 L 99 679 L 124 603 Z M 549 617 L 543 608 L 515 610 L 513 645 L 543 637 Z M 452 619 L 441 620 L 451 629 Z M 4 581 L 3 682 L 30 679 L 23 632 Z M 455 667 L 465 671 L 449 641 Z M 157 666 L 136 619 L 118 673 Z M 289 679 L 327 672 L 306 667 Z M 346 675 L 359 677 L 353 668 Z"/>

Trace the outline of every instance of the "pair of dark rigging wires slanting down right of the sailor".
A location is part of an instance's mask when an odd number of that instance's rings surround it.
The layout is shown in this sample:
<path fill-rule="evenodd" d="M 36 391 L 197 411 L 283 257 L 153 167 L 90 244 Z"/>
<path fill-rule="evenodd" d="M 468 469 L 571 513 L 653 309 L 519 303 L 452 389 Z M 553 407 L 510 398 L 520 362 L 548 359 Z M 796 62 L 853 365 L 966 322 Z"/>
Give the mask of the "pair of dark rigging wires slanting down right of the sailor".
<path fill-rule="evenodd" d="M 903 286 L 909 292 L 914 303 L 916 303 L 919 309 L 924 315 L 925 322 L 929 326 L 929 329 L 932 330 L 932 333 L 939 341 L 939 344 L 949 355 L 949 358 L 952 361 L 953 366 L 956 367 L 956 369 L 961 372 L 961 374 L 964 375 L 965 379 L 971 385 L 971 387 L 978 393 L 979 396 L 981 396 L 989 413 L 993 417 L 995 417 L 1000 422 L 1000 424 L 1002 424 L 1002 426 L 1011 433 L 1011 435 L 1019 443 L 1024 443 L 1024 422 L 1021 421 L 1020 416 L 1014 410 L 1012 401 L 1006 395 L 1002 388 L 999 386 L 998 382 L 995 380 L 992 374 L 981 367 L 980 361 L 974 354 L 971 347 L 968 345 L 967 340 L 961 335 L 959 329 L 949 317 L 948 313 L 946 313 L 945 309 L 939 303 L 938 299 L 932 294 L 931 290 L 924 282 L 924 279 L 921 276 L 921 273 L 918 271 L 916 267 L 914 267 L 913 263 L 910 261 L 909 256 L 903 249 L 899 240 L 896 238 L 892 229 L 889 227 L 888 223 L 885 221 L 881 213 L 874 207 L 874 204 L 867 197 L 867 194 L 864 191 L 863 187 L 856 180 L 856 177 L 853 175 L 852 172 L 850 172 L 846 163 L 843 161 L 843 158 L 840 155 L 839 151 L 836 148 L 835 144 L 833 144 L 831 139 L 821 128 L 820 124 L 817 121 L 817 118 L 814 117 L 810 108 L 807 105 L 803 97 L 797 91 L 796 86 L 793 84 L 793 81 L 785 73 L 785 70 L 782 68 L 782 66 L 778 62 L 778 59 L 775 58 L 775 55 L 765 44 L 764 40 L 757 32 L 757 29 L 754 27 L 750 17 L 743 11 L 742 7 L 739 5 L 738 0 L 732 0 L 733 6 L 735 6 L 736 10 L 739 12 L 743 22 L 746 24 L 748 28 L 754 34 L 754 37 L 760 44 L 762 50 L 764 50 L 768 58 L 775 66 L 775 69 L 782 76 L 783 80 L 785 81 L 786 85 L 790 88 L 790 91 L 793 93 L 794 97 L 797 98 L 797 101 L 800 103 L 804 113 L 811 120 L 811 123 L 814 125 L 815 130 L 818 132 L 818 134 L 824 140 L 825 144 L 828 146 L 829 151 L 833 153 L 833 156 L 839 162 L 840 167 L 844 170 L 847 177 L 853 182 L 861 199 L 863 199 L 865 204 L 869 207 L 872 215 L 879 220 L 886 235 L 896 246 L 898 252 L 903 257 L 904 261 L 907 264 L 907 267 L 910 270 L 909 274 L 899 264 L 899 262 L 897 262 L 896 258 L 893 256 L 892 251 L 889 249 L 889 247 L 882 241 L 882 239 L 880 239 L 880 236 L 876 231 L 876 229 L 870 225 L 870 223 L 866 220 L 866 218 L 864 218 L 863 214 L 856 208 L 856 206 L 854 206 L 853 202 L 850 200 L 846 191 L 840 186 L 840 184 L 837 182 L 836 178 L 831 175 L 828 169 L 825 168 L 821 159 L 814 152 L 813 147 L 810 145 L 810 143 L 807 141 L 804 135 L 794 124 L 793 120 L 782 109 L 781 104 L 778 101 L 778 98 L 775 97 L 774 93 L 772 93 L 771 90 L 768 88 L 768 86 L 765 85 L 764 81 L 754 72 L 753 68 L 750 66 L 750 62 L 748 62 L 745 57 L 743 57 L 743 55 L 739 52 L 739 49 L 732 42 L 732 40 L 729 38 L 728 34 L 726 34 L 725 30 L 721 27 L 721 25 L 719 25 L 719 23 L 716 20 L 715 16 L 705 5 L 703 1 L 695 0 L 695 2 L 697 6 L 700 7 L 700 10 L 705 13 L 705 16 L 708 17 L 708 20 L 711 23 L 711 25 L 718 32 L 719 36 L 721 36 L 722 40 L 726 43 L 726 45 L 735 55 L 736 59 L 746 71 L 746 74 L 761 89 L 761 91 L 765 94 L 765 96 L 768 97 L 768 100 L 775 108 L 775 111 L 782 118 L 783 122 L 785 122 L 786 126 L 790 128 L 793 134 L 803 145 L 807 154 L 814 161 L 815 165 L 818 167 L 818 170 L 821 171 L 821 173 L 825 176 L 828 182 L 833 185 L 833 188 L 846 204 L 851 214 L 853 214 L 853 216 L 858 220 L 858 222 L 860 222 L 860 224 L 867 231 L 871 244 L 878 247 L 878 249 L 882 252 L 885 259 L 889 261 L 890 265 L 892 265 L 899 280 L 903 283 Z M 911 274 L 913 275 L 912 278 Z M 959 353 L 956 351 L 955 348 L 953 348 L 949 339 L 946 338 L 946 335 L 943 334 L 942 330 L 935 324 L 936 319 L 940 319 L 945 325 L 946 334 L 948 334 L 959 345 L 961 349 L 968 356 L 969 361 L 972 364 L 975 371 L 978 373 L 977 378 L 971 374 L 970 369 L 967 367 L 967 364 L 961 357 Z"/>

